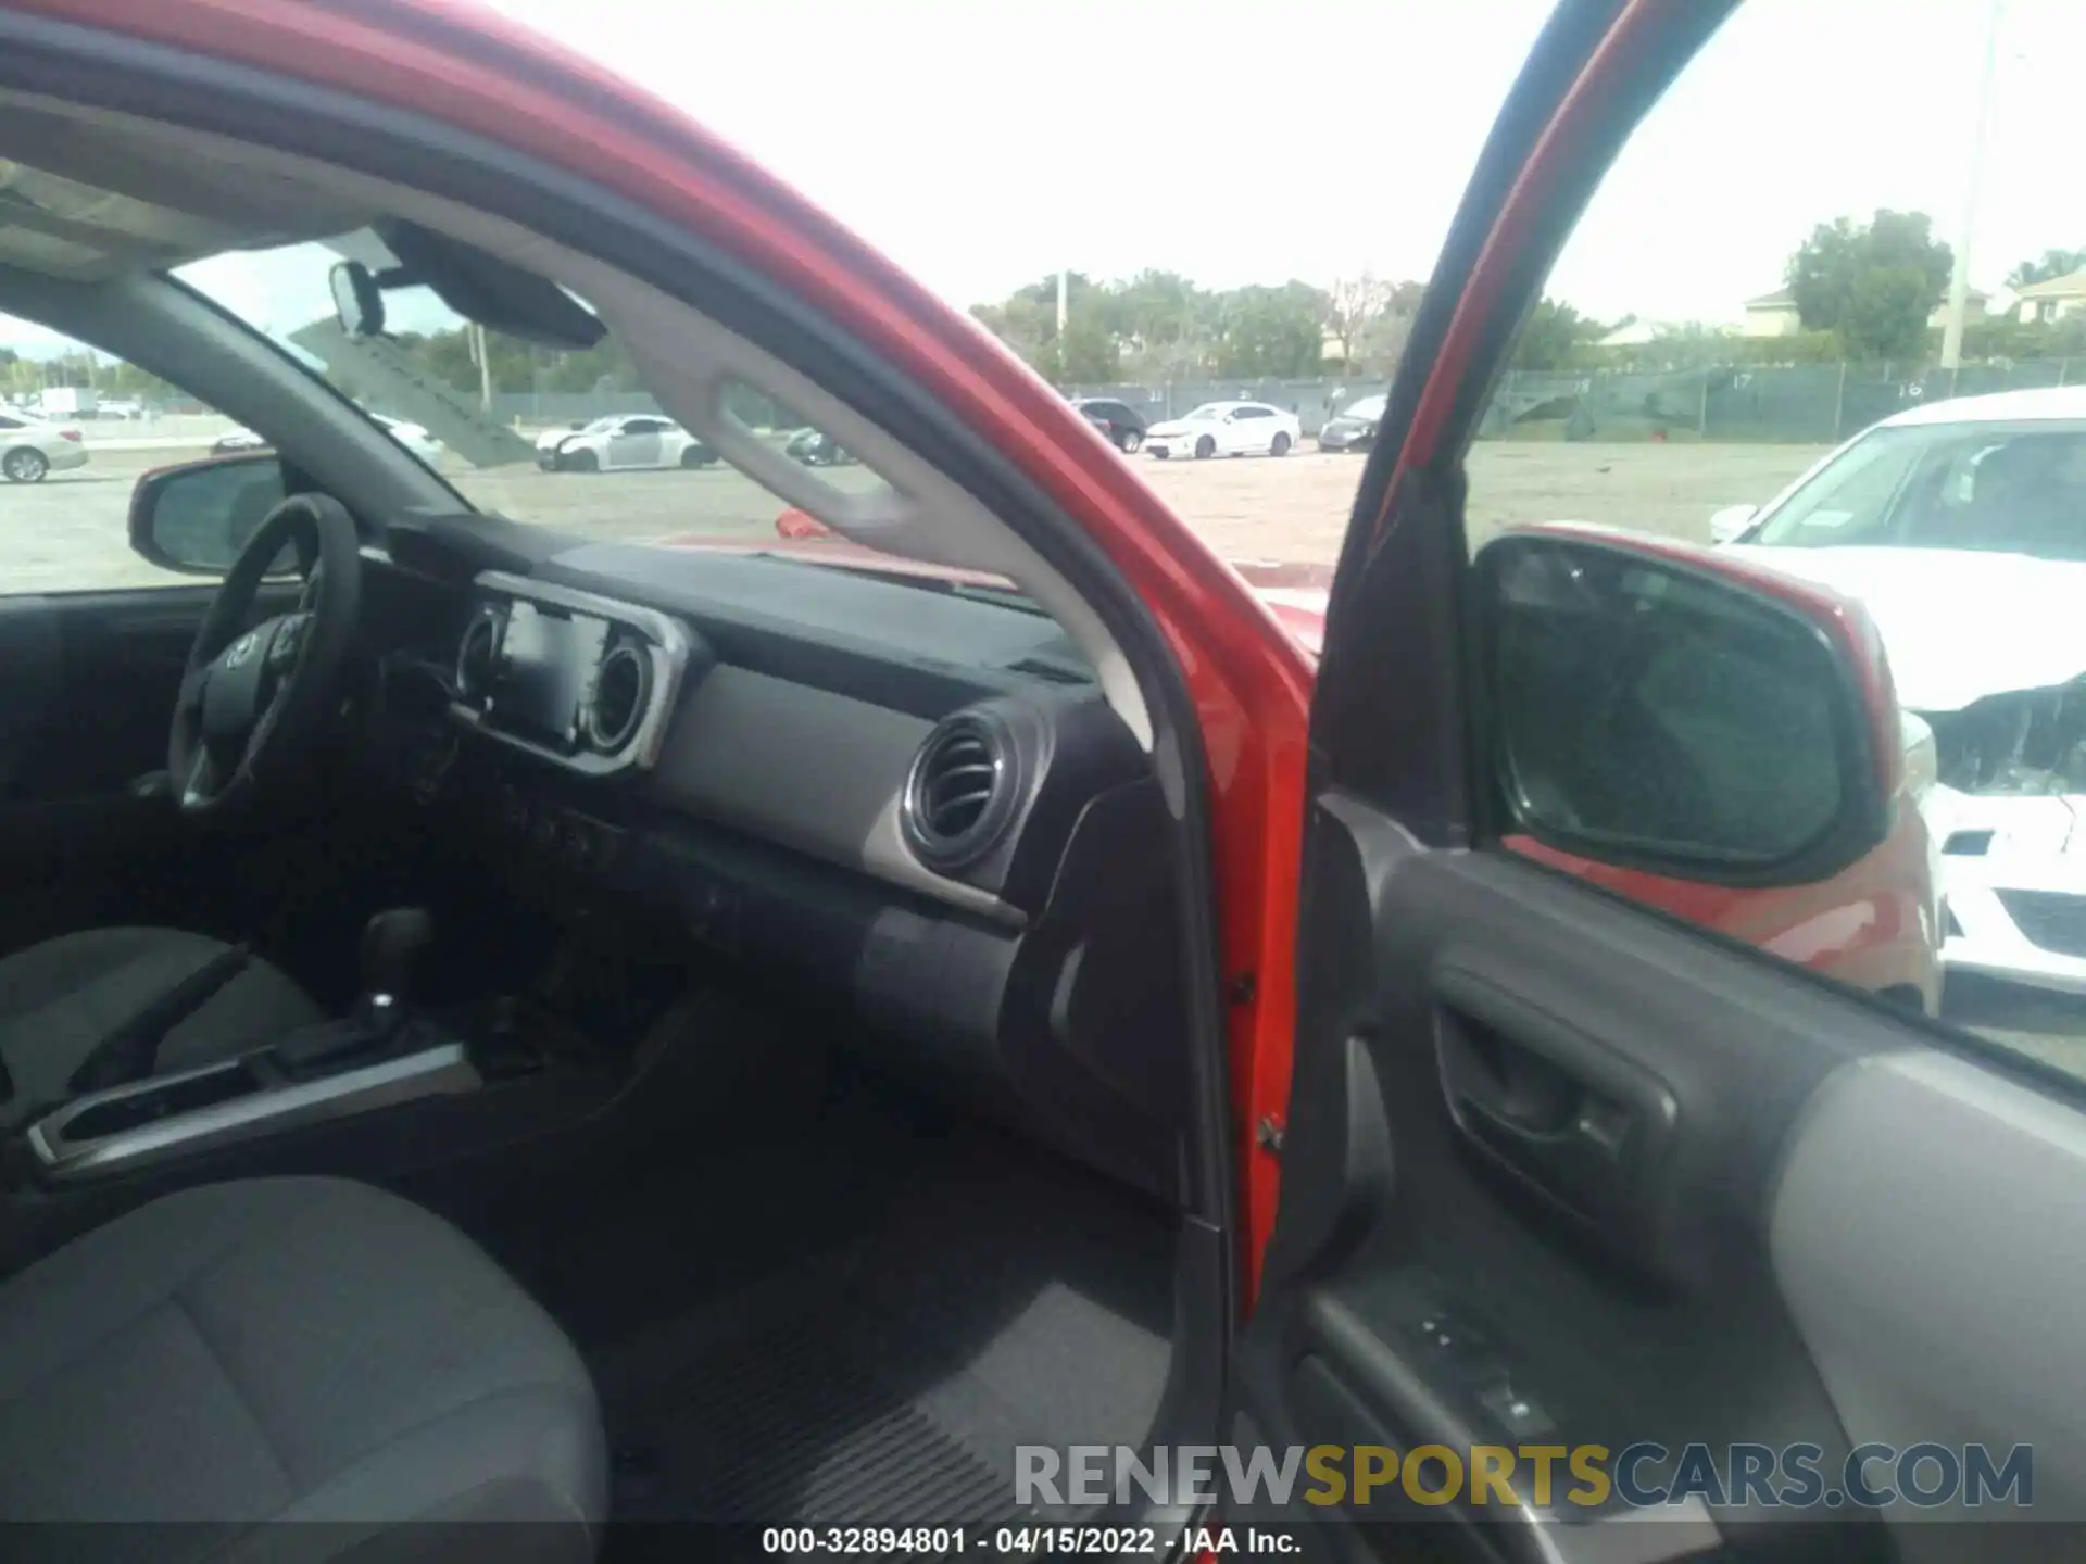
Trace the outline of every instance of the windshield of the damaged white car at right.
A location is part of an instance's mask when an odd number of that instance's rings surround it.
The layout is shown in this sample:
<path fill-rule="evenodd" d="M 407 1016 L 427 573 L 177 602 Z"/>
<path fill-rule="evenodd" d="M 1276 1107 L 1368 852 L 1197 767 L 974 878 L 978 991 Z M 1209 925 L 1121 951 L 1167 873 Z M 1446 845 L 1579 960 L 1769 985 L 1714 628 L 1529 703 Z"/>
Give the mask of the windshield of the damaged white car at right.
<path fill-rule="evenodd" d="M 1746 540 L 2086 561 L 2086 423 L 1873 430 Z"/>

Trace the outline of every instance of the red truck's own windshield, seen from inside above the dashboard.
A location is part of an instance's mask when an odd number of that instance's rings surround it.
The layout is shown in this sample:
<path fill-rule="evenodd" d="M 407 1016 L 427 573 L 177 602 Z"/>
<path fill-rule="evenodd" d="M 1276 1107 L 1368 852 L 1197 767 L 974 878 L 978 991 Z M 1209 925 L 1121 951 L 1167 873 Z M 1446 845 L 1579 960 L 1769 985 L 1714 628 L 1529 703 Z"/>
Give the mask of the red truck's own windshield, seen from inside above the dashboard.
<path fill-rule="evenodd" d="M 348 338 L 328 284 L 342 256 L 392 265 L 365 229 L 217 254 L 175 275 L 363 413 L 392 419 L 390 434 L 415 436 L 405 448 L 474 509 L 613 542 L 818 557 L 818 540 L 805 548 L 780 536 L 793 505 L 680 427 L 613 332 L 584 352 L 544 348 L 467 323 L 426 288 L 401 288 L 384 294 L 382 340 Z M 749 436 L 811 467 L 822 486 L 889 490 L 880 473 L 755 388 L 732 386 L 724 400 Z M 273 438 L 267 427 L 257 434 Z"/>

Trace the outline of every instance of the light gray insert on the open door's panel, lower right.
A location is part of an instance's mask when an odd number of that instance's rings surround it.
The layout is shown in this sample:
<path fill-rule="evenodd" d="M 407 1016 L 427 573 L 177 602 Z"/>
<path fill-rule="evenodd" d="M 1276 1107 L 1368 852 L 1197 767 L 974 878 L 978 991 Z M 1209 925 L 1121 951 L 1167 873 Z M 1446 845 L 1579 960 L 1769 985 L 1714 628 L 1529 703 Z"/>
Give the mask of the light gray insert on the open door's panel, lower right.
<path fill-rule="evenodd" d="M 2082 1182 L 2086 1116 L 1965 1059 L 1888 1053 L 1823 1084 L 1769 1239 L 1854 1443 L 2032 1445 L 2036 1508 L 2086 1516 L 2086 1333 L 2053 1308 L 2086 1297 Z M 1946 1556 L 1902 1533 L 1909 1558 Z"/>

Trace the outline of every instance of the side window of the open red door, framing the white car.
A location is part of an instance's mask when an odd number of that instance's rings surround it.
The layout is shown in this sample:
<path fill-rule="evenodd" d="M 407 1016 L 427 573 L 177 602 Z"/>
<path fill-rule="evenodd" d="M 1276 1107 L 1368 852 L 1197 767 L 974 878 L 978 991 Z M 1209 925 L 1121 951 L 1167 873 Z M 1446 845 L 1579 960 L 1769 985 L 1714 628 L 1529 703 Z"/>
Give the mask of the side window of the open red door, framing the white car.
<path fill-rule="evenodd" d="M 1500 849 L 2086 1076 L 2086 250 L 2036 173 L 2071 94 L 2038 17 L 1938 6 L 1798 133 L 1761 119 L 1756 65 L 1854 23 L 1740 6 L 1544 282 L 1466 515 L 1496 594 L 1500 540 L 1590 521 L 1852 598 L 1894 692 L 1859 707 L 1888 769 L 1865 782 L 1800 642 L 1552 561 L 1496 669 Z M 1921 150 L 1865 129 L 1905 94 L 1946 104 Z M 1871 782 L 1852 859 L 1736 867 L 1829 836 Z"/>

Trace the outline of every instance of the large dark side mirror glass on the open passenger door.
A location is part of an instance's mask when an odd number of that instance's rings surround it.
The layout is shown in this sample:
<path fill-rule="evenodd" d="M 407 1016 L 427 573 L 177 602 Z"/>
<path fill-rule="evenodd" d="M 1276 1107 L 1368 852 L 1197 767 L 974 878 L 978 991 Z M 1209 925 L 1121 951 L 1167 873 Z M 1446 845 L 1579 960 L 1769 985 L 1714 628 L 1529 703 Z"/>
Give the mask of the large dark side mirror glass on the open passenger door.
<path fill-rule="evenodd" d="M 1829 880 L 1896 820 L 1905 730 L 1852 601 L 1706 548 L 1546 526 L 1473 565 L 1508 832 L 1727 886 Z"/>

